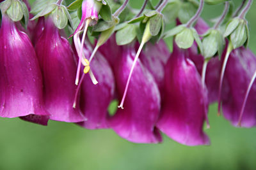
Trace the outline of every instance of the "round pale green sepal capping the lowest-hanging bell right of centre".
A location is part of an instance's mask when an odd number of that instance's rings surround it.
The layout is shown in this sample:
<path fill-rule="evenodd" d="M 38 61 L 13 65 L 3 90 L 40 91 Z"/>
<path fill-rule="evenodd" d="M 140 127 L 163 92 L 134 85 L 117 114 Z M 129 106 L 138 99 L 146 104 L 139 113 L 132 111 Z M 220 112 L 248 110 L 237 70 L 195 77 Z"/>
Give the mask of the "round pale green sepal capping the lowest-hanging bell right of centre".
<path fill-rule="evenodd" d="M 191 29 L 185 28 L 175 36 L 175 42 L 179 48 L 187 49 L 193 45 L 194 36 Z"/>

